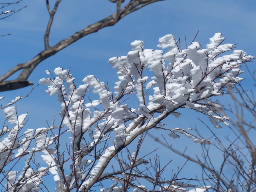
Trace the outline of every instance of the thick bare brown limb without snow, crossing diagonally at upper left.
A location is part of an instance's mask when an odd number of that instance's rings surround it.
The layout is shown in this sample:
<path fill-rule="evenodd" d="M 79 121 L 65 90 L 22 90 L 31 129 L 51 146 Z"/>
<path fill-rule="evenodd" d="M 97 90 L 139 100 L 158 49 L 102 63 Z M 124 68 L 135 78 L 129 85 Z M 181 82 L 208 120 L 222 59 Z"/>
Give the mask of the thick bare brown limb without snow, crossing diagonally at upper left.
<path fill-rule="evenodd" d="M 18 64 L 8 72 L 6 72 L 4 75 L 0 77 L 0 92 L 2 91 L 7 91 L 7 90 L 14 90 L 18 88 L 23 88 L 26 86 L 29 86 L 32 84 L 32 82 L 29 83 L 24 83 L 28 82 L 27 79 L 30 76 L 30 74 L 33 72 L 33 70 L 36 68 L 40 62 L 44 61 L 45 59 L 49 58 L 50 56 L 53 56 L 60 50 L 66 48 L 70 44 L 76 42 L 77 40 L 83 38 L 84 36 L 87 36 L 88 34 L 92 34 L 97 32 L 98 30 L 108 27 L 108 26 L 113 26 L 115 25 L 120 19 L 122 19 L 124 16 L 139 10 L 140 8 L 154 3 L 158 1 L 163 1 L 163 0 L 130 0 L 124 8 L 120 9 L 121 2 L 116 1 L 116 6 L 117 6 L 117 11 L 110 16 L 94 23 L 86 28 L 74 33 L 72 36 L 58 42 L 54 46 L 49 46 L 49 34 L 50 34 L 50 29 L 52 26 L 54 14 L 56 13 L 56 10 L 58 8 L 58 4 L 60 3 L 61 0 L 57 0 L 53 10 L 50 9 L 49 2 L 46 0 L 46 7 L 48 9 L 48 12 L 50 14 L 50 19 L 48 21 L 48 25 L 46 28 L 46 33 L 44 34 L 44 46 L 45 49 L 37 54 L 34 58 L 32 58 L 30 61 L 23 63 L 23 64 Z M 6 82 L 5 80 L 12 76 L 12 74 L 18 72 L 19 70 L 22 70 L 20 75 L 18 76 L 17 79 L 15 80 L 10 80 Z M 19 86 L 18 82 L 23 82 L 20 83 L 22 86 Z M 8 85 L 8 86 L 7 86 Z"/>

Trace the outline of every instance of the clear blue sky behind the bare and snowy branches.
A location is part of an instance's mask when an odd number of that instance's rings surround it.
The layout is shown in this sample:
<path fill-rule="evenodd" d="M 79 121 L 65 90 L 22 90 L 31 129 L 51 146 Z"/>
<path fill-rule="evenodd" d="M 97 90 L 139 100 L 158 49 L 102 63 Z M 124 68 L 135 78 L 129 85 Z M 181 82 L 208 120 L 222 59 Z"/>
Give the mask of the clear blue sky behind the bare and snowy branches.
<path fill-rule="evenodd" d="M 127 0 L 126 0 L 127 1 Z M 6 10 L 18 10 L 22 6 L 27 8 L 13 16 L 0 20 L 0 35 L 11 33 L 10 36 L 0 37 L 0 75 L 18 63 L 32 59 L 44 49 L 44 32 L 48 22 L 48 12 L 45 0 L 24 0 Z M 216 32 L 226 37 L 225 43 L 237 44 L 237 49 L 244 50 L 256 56 L 256 1 L 255 0 L 165 0 L 157 2 L 134 12 L 115 26 L 104 28 L 97 33 L 90 34 L 68 46 L 56 55 L 48 58 L 34 70 L 28 78 L 35 85 L 40 78 L 46 78 L 45 70 L 53 71 L 56 67 L 71 68 L 70 73 L 76 77 L 76 83 L 94 74 L 100 81 L 109 82 L 110 85 L 118 80 L 116 72 L 108 64 L 108 59 L 115 56 L 126 56 L 131 50 L 130 43 L 134 40 L 143 40 L 144 48 L 157 49 L 158 38 L 166 34 L 180 37 L 185 47 L 184 36 L 191 42 L 200 30 L 196 41 L 203 46 L 208 44 L 209 38 Z M 54 18 L 50 33 L 50 46 L 60 40 L 71 36 L 74 32 L 85 28 L 116 10 L 115 4 L 108 0 L 63 0 Z M 5 10 L 3 10 L 5 11 Z M 255 63 L 250 63 L 251 70 L 256 70 Z M 250 78 L 243 74 L 243 84 L 250 87 Z M 10 92 L 1 92 L 5 96 L 1 104 L 4 105 L 16 96 L 25 96 L 32 86 Z M 47 127 L 46 120 L 52 122 L 54 114 L 60 109 L 56 97 L 50 97 L 39 85 L 28 98 L 17 103 L 19 114 L 29 112 L 27 128 Z M 219 98 L 218 98 L 219 99 Z M 228 98 L 222 100 L 228 104 Z M 3 114 L 3 113 L 2 113 Z M 0 122 L 4 116 L 0 114 Z M 192 110 L 170 122 L 170 128 L 188 128 L 195 125 L 204 129 L 196 119 L 201 114 Z M 207 122 L 208 123 L 208 122 Z M 202 130 L 202 132 L 204 132 Z M 182 138 L 175 140 L 177 146 L 185 148 Z M 174 142 L 174 143 L 175 143 Z M 192 142 L 192 141 L 190 141 Z M 159 150 L 158 153 L 164 150 Z M 166 154 L 168 159 L 172 156 Z M 173 159 L 176 170 L 177 161 Z M 181 166 L 181 165 L 180 165 Z M 193 173 L 190 172 L 190 174 Z M 191 176 L 191 175 L 190 175 Z"/>

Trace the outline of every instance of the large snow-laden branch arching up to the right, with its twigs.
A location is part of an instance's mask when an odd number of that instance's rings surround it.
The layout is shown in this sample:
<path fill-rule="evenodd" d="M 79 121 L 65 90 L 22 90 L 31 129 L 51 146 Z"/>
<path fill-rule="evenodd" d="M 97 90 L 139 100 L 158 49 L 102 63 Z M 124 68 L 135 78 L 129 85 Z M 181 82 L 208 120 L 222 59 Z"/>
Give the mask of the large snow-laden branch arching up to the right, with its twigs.
<path fill-rule="evenodd" d="M 60 115 L 65 116 L 63 123 L 69 132 L 74 133 L 72 142 L 79 142 L 80 136 L 89 132 L 92 142 L 88 150 L 114 130 L 114 145 L 99 156 L 98 163 L 88 178 L 84 178 L 81 188 L 88 189 L 97 182 L 116 151 L 122 150 L 143 132 L 156 128 L 169 114 L 177 116 L 179 108 L 191 108 L 208 115 L 216 128 L 221 127 L 221 122 L 228 124 L 228 117 L 221 115 L 222 106 L 208 98 L 222 95 L 224 88 L 242 81 L 238 77 L 243 72 L 240 67 L 254 57 L 242 50 L 233 50 L 234 44 L 221 45 L 225 39 L 221 35 L 216 33 L 210 38 L 205 49 L 201 49 L 198 42 L 192 42 L 184 50 L 178 47 L 174 35 L 166 35 L 159 38 L 158 47 L 168 48 L 167 52 L 144 49 L 143 41 L 132 42 L 132 51 L 127 56 L 109 60 L 119 79 L 114 92 L 92 75 L 84 78 L 83 85 L 76 87 L 69 70 L 62 68 L 54 70 L 56 78 L 40 80 L 40 83 L 48 85 L 46 92 L 58 94 L 62 103 Z M 50 74 L 49 71 L 46 73 Z M 86 103 L 84 95 L 89 89 L 98 94 L 99 99 Z M 150 89 L 153 89 L 151 95 Z M 138 98 L 136 109 L 121 104 L 122 99 L 131 94 Z M 98 105 L 102 110 L 96 109 Z M 67 106 L 68 113 L 65 113 Z M 180 128 L 170 129 L 169 136 L 177 138 L 177 133 L 194 138 L 197 143 L 211 143 Z M 109 138 L 111 136 L 105 140 Z"/>

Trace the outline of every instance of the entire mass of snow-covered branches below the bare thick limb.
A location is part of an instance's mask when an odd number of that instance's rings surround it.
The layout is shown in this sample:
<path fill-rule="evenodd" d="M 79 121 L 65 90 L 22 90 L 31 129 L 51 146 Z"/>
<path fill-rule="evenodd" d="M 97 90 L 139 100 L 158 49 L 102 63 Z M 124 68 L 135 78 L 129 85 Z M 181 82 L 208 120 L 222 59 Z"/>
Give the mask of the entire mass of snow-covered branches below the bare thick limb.
<path fill-rule="evenodd" d="M 62 120 L 58 128 L 28 129 L 20 134 L 26 115 L 17 116 L 14 107 L 4 110 L 8 122 L 14 124 L 11 129 L 3 129 L 6 135 L 1 140 L 0 174 L 4 175 L 5 189 L 37 190 L 43 188 L 46 174 L 51 174 L 56 192 L 87 192 L 99 185 L 101 191 L 194 192 L 195 189 L 186 188 L 196 186 L 177 182 L 176 177 L 162 180 L 157 163 L 156 178 L 142 172 L 140 168 L 149 170 L 149 161 L 140 157 L 139 150 L 146 132 L 152 128 L 166 130 L 172 138 L 184 134 L 196 143 L 211 144 L 190 130 L 168 129 L 161 123 L 169 115 L 179 117 L 180 108 L 207 115 L 216 128 L 221 123 L 228 124 L 229 118 L 222 116 L 222 106 L 210 98 L 240 82 L 240 67 L 254 58 L 242 50 L 233 50 L 233 44 L 221 45 L 223 41 L 216 33 L 205 49 L 192 42 L 181 50 L 174 36 L 166 35 L 159 39 L 158 47 L 168 51 L 144 49 L 144 42 L 132 42 L 127 56 L 109 60 L 118 76 L 114 90 L 93 75 L 76 86 L 69 70 L 56 68 L 54 74 L 47 70 L 46 74 L 52 77 L 41 79 L 40 83 L 48 86 L 46 92 L 50 96 L 58 96 Z M 125 104 L 127 98 L 132 100 L 132 107 Z M 128 146 L 137 141 L 136 149 L 130 152 Z M 124 151 L 127 159 L 121 155 Z M 35 154 L 41 155 L 46 166 L 36 162 L 30 165 Z M 27 159 L 23 170 L 5 170 L 7 164 L 15 167 L 12 161 L 23 156 Z M 105 180 L 112 185 L 104 186 Z M 152 185 L 142 186 L 143 181 Z M 208 188 L 197 187 L 196 191 Z"/>

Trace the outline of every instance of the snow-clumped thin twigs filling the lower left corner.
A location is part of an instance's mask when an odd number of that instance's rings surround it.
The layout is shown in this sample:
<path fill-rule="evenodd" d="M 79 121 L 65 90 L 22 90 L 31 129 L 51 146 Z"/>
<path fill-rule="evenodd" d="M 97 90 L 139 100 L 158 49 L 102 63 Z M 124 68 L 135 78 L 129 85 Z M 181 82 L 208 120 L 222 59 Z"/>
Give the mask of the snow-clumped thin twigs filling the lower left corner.
<path fill-rule="evenodd" d="M 4 114 L 12 126 L 4 127 L 0 134 L 0 182 L 5 183 L 2 187 L 6 191 L 39 190 L 42 177 L 47 175 L 49 168 L 40 167 L 40 164 L 33 167 L 36 162 L 32 159 L 36 152 L 48 152 L 46 148 L 52 144 L 52 140 L 46 138 L 49 130 L 28 129 L 22 132 L 28 114 L 18 115 L 16 107 L 5 108 Z M 35 143 L 36 148 L 31 148 Z M 25 163 L 21 166 L 22 158 Z"/>

